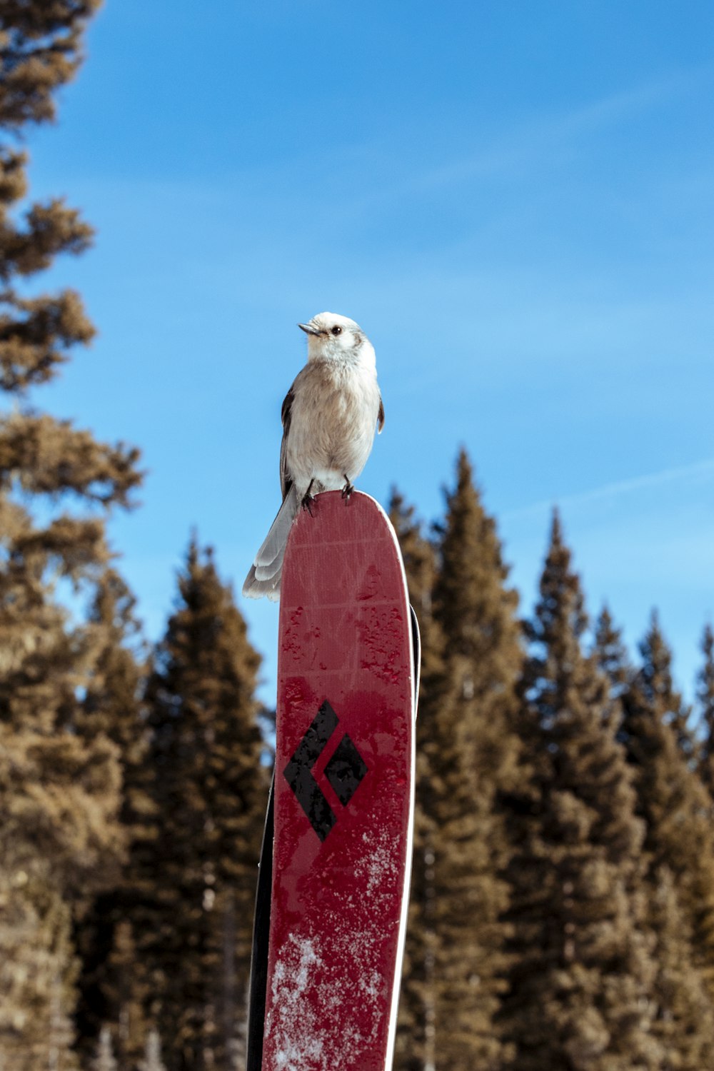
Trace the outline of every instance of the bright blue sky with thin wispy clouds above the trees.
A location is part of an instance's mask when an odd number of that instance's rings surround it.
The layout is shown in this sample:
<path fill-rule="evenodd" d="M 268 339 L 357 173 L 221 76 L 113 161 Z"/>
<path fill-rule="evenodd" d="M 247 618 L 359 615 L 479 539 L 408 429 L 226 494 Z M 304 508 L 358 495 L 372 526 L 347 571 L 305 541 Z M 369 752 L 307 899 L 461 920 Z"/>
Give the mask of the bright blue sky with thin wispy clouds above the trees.
<path fill-rule="evenodd" d="M 157 637 L 189 529 L 237 591 L 279 406 L 330 310 L 377 349 L 360 481 L 442 509 L 459 444 L 523 612 L 560 506 L 590 609 L 714 616 L 714 5 L 108 0 L 31 194 L 66 194 L 100 330 L 36 404 L 143 451 L 112 524 Z M 277 610 L 239 597 L 274 690 Z"/>

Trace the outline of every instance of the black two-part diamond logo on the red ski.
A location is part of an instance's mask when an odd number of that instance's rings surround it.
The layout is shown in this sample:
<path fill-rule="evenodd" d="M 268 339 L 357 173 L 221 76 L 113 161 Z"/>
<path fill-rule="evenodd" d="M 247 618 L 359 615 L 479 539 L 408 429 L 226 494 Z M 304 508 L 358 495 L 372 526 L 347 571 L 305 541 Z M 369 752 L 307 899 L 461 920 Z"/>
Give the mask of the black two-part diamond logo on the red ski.
<path fill-rule="evenodd" d="M 313 767 L 338 724 L 337 714 L 325 699 L 284 770 L 286 781 L 321 841 L 325 840 L 337 817 L 313 776 Z M 343 806 L 347 806 L 367 772 L 365 760 L 347 733 L 337 744 L 324 772 L 337 799 Z"/>

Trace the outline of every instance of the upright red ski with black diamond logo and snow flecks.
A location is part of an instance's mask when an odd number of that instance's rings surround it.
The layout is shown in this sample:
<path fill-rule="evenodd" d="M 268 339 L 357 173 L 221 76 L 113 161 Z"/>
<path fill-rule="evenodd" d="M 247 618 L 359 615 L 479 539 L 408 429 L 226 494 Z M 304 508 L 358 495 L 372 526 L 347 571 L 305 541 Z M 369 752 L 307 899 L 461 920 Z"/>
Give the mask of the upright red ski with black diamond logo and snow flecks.
<path fill-rule="evenodd" d="M 270 940 L 255 1066 L 385 1071 L 411 863 L 410 607 L 394 530 L 374 499 L 329 492 L 312 510 L 295 521 L 283 568 Z M 261 954 L 254 951 L 254 1062 Z"/>

